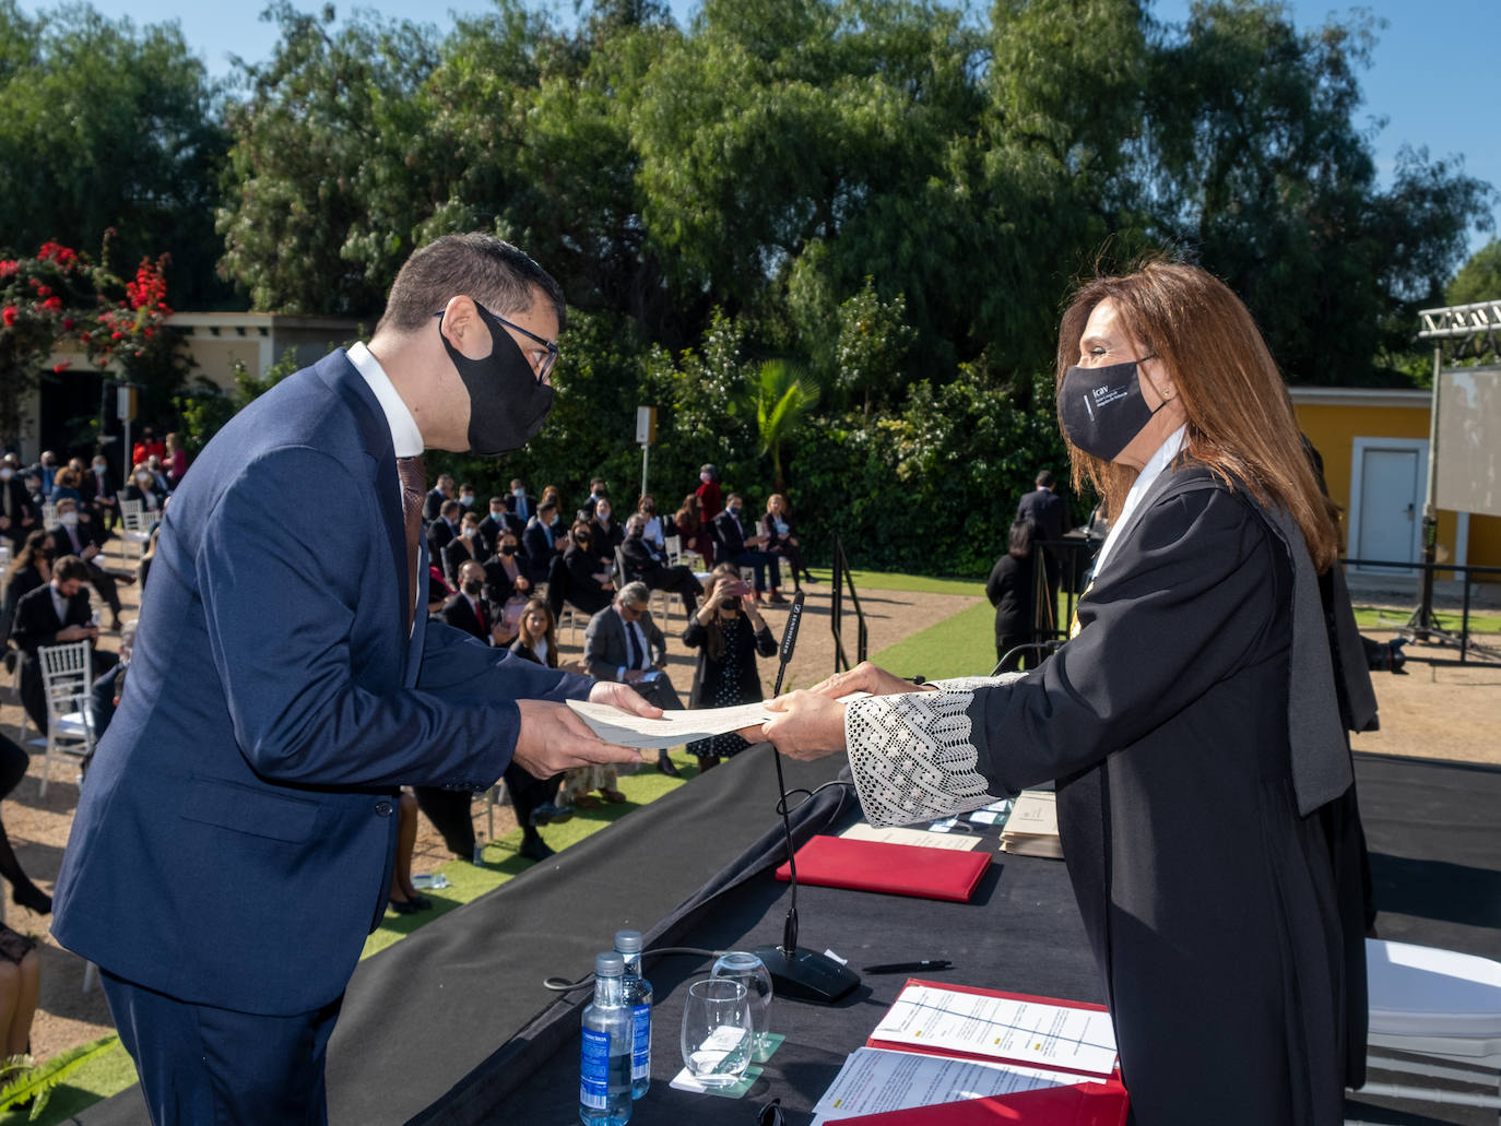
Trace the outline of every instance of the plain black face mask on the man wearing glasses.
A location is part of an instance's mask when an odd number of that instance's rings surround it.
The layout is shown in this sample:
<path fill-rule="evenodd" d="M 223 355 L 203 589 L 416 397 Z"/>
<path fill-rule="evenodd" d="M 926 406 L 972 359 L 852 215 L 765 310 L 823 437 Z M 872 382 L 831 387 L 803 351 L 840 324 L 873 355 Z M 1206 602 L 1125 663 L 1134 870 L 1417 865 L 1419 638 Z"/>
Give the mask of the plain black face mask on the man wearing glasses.
<path fill-rule="evenodd" d="M 438 335 L 470 396 L 470 453 L 498 458 L 537 435 L 552 410 L 552 387 L 537 383 L 525 353 L 506 326 L 479 302 L 474 308 L 489 329 L 489 356 L 471 360 L 455 348 L 441 333 L 443 321 L 438 321 Z"/>

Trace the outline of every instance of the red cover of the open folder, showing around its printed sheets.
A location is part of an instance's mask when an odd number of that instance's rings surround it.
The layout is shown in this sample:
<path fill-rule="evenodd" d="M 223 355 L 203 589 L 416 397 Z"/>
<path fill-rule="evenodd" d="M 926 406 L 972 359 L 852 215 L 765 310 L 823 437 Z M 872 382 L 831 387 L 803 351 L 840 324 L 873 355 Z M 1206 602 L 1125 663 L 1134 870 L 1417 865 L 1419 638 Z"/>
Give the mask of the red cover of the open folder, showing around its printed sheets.
<path fill-rule="evenodd" d="M 902 988 L 905 989 L 908 985 L 926 985 L 934 989 L 949 989 L 952 992 L 973 992 L 982 997 L 1009 997 L 1012 1000 L 1037 1001 L 1042 1004 L 1060 1004 L 1069 1009 L 1105 1010 L 1103 1004 L 1090 1004 L 1087 1001 L 1066 1001 L 1057 997 L 1036 997 L 1031 994 L 1004 992 L 1001 989 L 979 989 L 970 985 L 928 982 L 919 977 L 908 977 Z M 890 1040 L 880 1040 L 875 1036 L 869 1037 L 866 1045 L 871 1048 L 884 1048 L 886 1051 L 910 1051 L 923 1055 L 947 1055 L 950 1058 L 1015 1063 L 1027 1067 L 1043 1066 L 1049 1070 L 1073 1070 L 1057 1064 L 1039 1064 L 1036 1060 L 997 1060 L 994 1055 L 979 1052 L 893 1043 Z M 1103 1078 L 1103 1082 L 1084 1082 L 1082 1079 L 1088 1072 L 1078 1072 L 1078 1075 L 1081 1082 L 1067 1087 L 1043 1087 L 1013 1094 L 991 1094 L 983 1099 L 913 1106 L 904 1111 L 830 1118 L 829 1126 L 836 1126 L 836 1123 L 845 1123 L 847 1126 L 856 1126 L 856 1123 L 859 1126 L 998 1126 L 1000 1123 L 1016 1123 L 1016 1126 L 1126 1126 L 1126 1111 L 1130 1106 L 1130 1099 L 1126 1094 L 1126 1087 L 1121 1085 L 1120 1066 L 1117 1064 L 1109 1076 L 1097 1076 Z"/>

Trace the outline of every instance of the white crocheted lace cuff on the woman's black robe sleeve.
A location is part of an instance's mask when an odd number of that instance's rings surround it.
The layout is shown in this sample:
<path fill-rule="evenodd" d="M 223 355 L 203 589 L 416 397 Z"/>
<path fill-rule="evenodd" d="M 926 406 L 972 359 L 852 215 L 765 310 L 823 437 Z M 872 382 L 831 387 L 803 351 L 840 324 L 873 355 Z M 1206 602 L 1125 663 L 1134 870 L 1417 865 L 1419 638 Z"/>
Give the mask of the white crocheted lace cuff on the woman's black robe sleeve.
<path fill-rule="evenodd" d="M 974 682 L 952 682 L 970 685 L 959 691 L 869 697 L 845 707 L 850 772 L 871 824 L 931 821 L 995 800 L 976 770 L 970 704 L 974 688 L 997 680 Z"/>

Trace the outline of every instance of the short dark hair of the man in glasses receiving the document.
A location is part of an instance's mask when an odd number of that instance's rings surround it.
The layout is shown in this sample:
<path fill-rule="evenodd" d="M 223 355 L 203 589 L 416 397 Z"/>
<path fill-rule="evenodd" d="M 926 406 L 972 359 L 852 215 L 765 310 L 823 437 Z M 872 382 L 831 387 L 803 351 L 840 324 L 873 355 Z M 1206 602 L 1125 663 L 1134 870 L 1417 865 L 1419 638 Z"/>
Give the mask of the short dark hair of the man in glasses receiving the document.
<path fill-rule="evenodd" d="M 473 297 L 498 317 L 509 317 L 531 308 L 534 290 L 552 302 L 561 332 L 563 290 L 552 275 L 494 234 L 444 234 L 402 264 L 375 332 L 416 332 L 459 294 Z"/>

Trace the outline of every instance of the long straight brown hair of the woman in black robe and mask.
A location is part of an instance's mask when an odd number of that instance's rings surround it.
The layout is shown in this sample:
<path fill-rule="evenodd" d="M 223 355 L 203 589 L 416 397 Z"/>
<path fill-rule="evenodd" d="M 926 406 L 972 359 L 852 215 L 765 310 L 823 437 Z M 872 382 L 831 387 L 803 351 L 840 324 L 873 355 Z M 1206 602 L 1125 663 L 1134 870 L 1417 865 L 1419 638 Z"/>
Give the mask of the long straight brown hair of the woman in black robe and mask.
<path fill-rule="evenodd" d="M 1292 399 L 1250 312 L 1196 266 L 1148 261 L 1120 278 L 1096 278 L 1073 297 L 1058 326 L 1057 386 L 1079 362 L 1079 338 L 1102 300 L 1115 303 L 1144 356 L 1166 365 L 1189 416 L 1180 458 L 1207 465 L 1231 489 L 1280 504 L 1297 521 L 1313 566 L 1339 557 L 1337 516 L 1303 449 Z M 1112 519 L 1136 470 L 1090 456 L 1069 443 L 1073 486 L 1088 480 Z"/>

